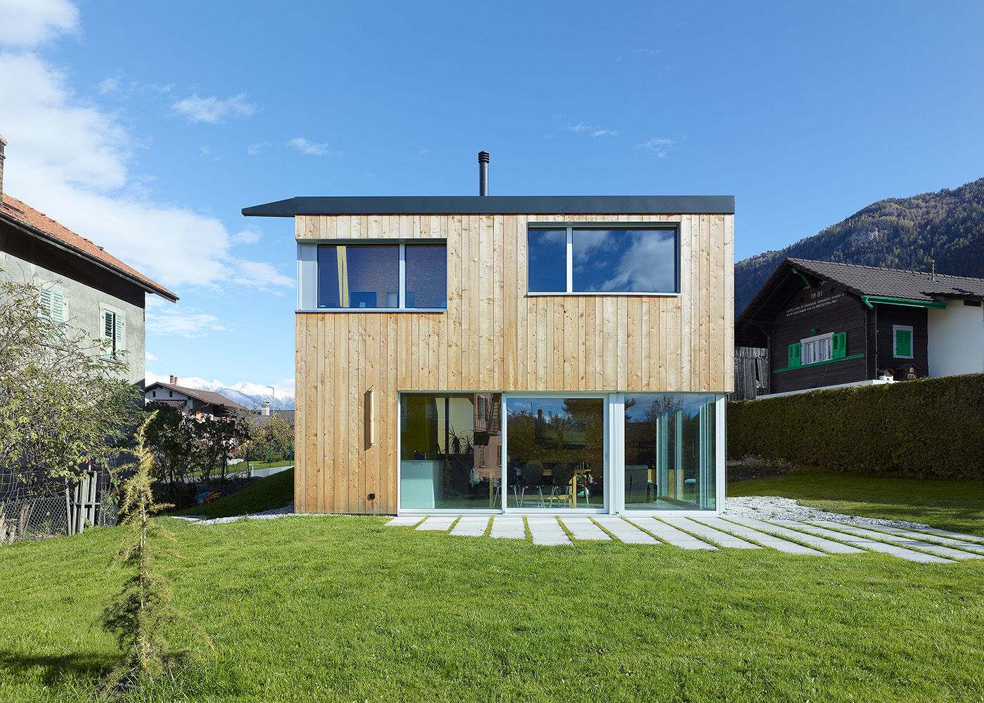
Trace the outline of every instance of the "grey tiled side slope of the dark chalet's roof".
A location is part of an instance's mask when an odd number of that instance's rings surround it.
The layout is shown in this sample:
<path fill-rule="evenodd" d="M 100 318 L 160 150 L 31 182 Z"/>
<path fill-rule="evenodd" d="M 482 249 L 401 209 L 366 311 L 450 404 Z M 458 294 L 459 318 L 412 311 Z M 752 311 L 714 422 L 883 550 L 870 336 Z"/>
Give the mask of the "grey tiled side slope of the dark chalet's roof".
<path fill-rule="evenodd" d="M 984 279 L 945 274 L 936 274 L 934 277 L 928 271 L 880 269 L 837 261 L 786 261 L 800 271 L 836 281 L 858 295 L 884 295 L 927 302 L 939 297 L 984 297 Z"/>

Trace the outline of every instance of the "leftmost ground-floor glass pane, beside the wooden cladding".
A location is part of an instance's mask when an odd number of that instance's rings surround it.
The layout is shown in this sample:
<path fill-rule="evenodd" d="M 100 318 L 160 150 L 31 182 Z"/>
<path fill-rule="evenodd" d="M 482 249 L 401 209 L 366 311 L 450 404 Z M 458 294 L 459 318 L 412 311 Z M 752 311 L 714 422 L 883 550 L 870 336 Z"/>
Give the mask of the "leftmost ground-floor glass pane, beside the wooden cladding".
<path fill-rule="evenodd" d="M 501 408 L 499 394 L 400 394 L 400 509 L 500 507 Z"/>

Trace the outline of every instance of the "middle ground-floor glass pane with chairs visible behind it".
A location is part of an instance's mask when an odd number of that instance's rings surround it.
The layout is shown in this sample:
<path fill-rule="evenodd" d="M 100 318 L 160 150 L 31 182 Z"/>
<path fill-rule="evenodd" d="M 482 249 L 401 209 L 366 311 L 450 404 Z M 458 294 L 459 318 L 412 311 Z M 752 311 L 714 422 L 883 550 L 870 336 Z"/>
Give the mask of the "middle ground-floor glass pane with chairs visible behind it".
<path fill-rule="evenodd" d="M 517 507 L 603 508 L 604 400 L 510 398 L 507 492 Z"/>

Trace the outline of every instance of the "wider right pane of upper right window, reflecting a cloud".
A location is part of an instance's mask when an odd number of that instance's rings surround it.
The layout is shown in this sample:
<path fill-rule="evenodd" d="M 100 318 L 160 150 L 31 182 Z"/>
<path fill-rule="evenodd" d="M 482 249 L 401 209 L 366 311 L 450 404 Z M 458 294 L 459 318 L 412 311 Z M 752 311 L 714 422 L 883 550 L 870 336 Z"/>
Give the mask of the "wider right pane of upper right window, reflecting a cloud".
<path fill-rule="evenodd" d="M 573 232 L 574 290 L 674 292 L 675 229 L 578 229 Z"/>

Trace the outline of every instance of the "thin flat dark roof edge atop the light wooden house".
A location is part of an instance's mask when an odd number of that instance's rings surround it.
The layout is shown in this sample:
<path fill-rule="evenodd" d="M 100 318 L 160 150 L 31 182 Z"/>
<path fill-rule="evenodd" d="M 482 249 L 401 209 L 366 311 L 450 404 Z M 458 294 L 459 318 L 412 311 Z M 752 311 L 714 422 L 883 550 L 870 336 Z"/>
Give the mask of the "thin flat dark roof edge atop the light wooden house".
<path fill-rule="evenodd" d="M 246 217 L 295 215 L 733 215 L 733 195 L 312 196 L 243 208 Z"/>

